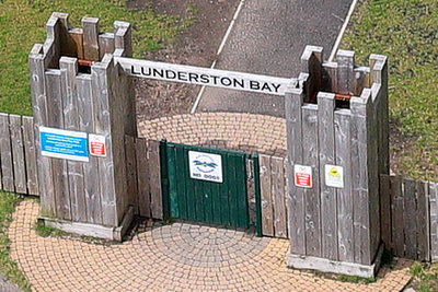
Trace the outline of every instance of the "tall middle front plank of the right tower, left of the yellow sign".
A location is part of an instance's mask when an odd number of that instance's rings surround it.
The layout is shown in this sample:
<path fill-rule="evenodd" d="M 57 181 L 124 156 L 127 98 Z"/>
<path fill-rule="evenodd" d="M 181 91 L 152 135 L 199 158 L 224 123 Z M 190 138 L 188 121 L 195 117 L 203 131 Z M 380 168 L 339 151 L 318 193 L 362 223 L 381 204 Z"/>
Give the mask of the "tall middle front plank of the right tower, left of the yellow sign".
<path fill-rule="evenodd" d="M 325 165 L 335 164 L 335 94 L 318 94 L 318 137 L 321 175 L 322 256 L 337 260 L 337 198 L 336 189 L 325 184 Z M 343 142 L 346 142 L 345 140 Z"/>

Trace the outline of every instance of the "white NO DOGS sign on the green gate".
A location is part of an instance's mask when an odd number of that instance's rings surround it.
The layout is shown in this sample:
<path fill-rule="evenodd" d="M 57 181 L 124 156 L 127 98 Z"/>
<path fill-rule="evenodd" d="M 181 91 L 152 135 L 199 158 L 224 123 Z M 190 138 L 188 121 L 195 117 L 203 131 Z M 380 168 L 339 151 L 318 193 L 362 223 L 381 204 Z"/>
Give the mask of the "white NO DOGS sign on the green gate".
<path fill-rule="evenodd" d="M 222 157 L 218 154 L 188 151 L 191 178 L 222 183 Z"/>

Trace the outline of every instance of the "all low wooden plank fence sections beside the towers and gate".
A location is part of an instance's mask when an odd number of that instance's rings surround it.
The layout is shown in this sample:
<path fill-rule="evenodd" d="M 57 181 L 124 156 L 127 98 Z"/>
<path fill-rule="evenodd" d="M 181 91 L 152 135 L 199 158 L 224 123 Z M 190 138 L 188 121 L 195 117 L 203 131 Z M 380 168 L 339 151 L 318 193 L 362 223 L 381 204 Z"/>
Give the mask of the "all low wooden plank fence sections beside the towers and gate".
<path fill-rule="evenodd" d="M 142 217 L 162 219 L 160 142 L 126 136 L 129 194 Z M 0 187 L 38 196 L 33 118 L 0 113 Z M 262 230 L 289 237 L 286 159 L 260 155 Z M 381 175 L 382 241 L 394 256 L 438 260 L 438 183 Z"/>

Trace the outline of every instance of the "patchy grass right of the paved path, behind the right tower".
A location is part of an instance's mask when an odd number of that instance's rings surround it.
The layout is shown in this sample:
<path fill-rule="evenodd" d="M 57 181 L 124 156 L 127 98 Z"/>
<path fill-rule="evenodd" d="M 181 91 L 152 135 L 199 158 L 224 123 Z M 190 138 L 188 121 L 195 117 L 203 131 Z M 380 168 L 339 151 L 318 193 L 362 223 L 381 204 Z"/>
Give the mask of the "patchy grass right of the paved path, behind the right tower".
<path fill-rule="evenodd" d="M 438 180 L 438 2 L 360 1 L 341 47 L 389 56 L 394 172 Z"/>

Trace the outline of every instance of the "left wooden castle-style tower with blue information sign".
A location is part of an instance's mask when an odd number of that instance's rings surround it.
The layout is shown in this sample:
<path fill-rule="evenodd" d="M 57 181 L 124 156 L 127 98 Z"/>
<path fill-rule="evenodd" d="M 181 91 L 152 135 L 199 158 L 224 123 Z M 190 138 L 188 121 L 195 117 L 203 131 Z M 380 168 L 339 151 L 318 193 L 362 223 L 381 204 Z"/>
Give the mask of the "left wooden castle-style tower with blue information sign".
<path fill-rule="evenodd" d="M 45 224 L 122 240 L 137 207 L 128 194 L 125 135 L 136 137 L 132 85 L 114 57 L 130 57 L 130 24 L 101 34 L 99 19 L 71 28 L 53 13 L 28 56 L 41 218 Z"/>

